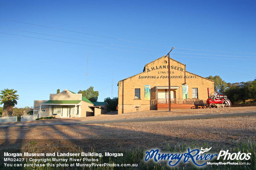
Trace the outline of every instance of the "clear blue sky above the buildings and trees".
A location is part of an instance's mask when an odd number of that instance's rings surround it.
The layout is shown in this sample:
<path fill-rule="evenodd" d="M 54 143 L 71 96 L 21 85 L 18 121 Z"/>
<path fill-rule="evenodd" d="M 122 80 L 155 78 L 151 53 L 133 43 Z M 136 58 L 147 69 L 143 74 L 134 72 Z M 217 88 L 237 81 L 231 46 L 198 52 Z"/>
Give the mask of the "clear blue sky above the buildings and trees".
<path fill-rule="evenodd" d="M 251 81 L 255 6 L 252 0 L 0 0 L 0 89 L 18 90 L 17 107 L 48 100 L 58 88 L 78 92 L 93 86 L 103 101 L 111 97 L 112 75 L 116 97 L 118 81 L 171 47 L 171 57 L 189 72 Z"/>

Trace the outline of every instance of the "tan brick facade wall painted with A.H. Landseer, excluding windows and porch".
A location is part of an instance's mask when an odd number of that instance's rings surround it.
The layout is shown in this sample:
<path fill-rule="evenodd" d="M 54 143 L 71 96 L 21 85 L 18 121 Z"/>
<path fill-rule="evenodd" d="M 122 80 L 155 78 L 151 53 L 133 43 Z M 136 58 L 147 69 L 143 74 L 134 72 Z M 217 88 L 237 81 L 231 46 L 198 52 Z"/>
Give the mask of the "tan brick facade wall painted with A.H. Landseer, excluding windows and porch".
<path fill-rule="evenodd" d="M 173 89 L 175 97 L 182 99 L 182 84 L 185 82 L 189 88 L 189 99 L 192 99 L 192 88 L 198 89 L 198 99 L 208 98 L 207 88 L 210 92 L 214 91 L 214 82 L 204 77 L 186 71 L 185 65 L 170 59 L 171 86 L 178 86 Z M 121 80 L 118 83 L 118 114 L 146 111 L 154 109 L 150 107 L 150 101 L 145 100 L 145 85 L 150 85 L 150 99 L 156 98 L 158 86 L 168 86 L 168 57 L 160 57 L 155 61 L 145 65 L 145 71 Z M 140 88 L 140 99 L 135 99 L 135 88 Z"/>

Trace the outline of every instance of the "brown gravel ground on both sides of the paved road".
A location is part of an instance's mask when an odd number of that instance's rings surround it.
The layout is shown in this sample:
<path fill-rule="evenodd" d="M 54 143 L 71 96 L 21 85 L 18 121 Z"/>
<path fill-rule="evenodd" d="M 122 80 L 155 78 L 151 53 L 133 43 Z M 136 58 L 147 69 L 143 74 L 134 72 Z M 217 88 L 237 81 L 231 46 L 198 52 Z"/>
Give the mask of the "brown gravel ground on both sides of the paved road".
<path fill-rule="evenodd" d="M 121 115 L 101 115 L 89 118 L 67 120 L 94 119 L 127 119 L 150 116 L 173 116 L 212 113 L 253 112 L 256 107 L 234 107 L 219 109 L 183 109 L 174 112 L 140 112 Z M 54 120 L 57 121 L 58 119 Z M 61 120 L 61 119 L 59 119 Z M 48 121 L 48 120 L 40 120 Z M 231 117 L 203 120 L 177 120 L 163 122 L 135 122 L 109 124 L 78 124 L 31 127 L 0 128 L 0 146 L 17 143 L 17 139 L 57 139 L 79 143 L 87 141 L 87 146 L 102 148 L 154 147 L 176 145 L 182 142 L 209 142 L 220 145 L 232 145 L 243 141 L 256 141 L 256 116 Z M 112 141 L 112 142 L 110 142 Z"/>

